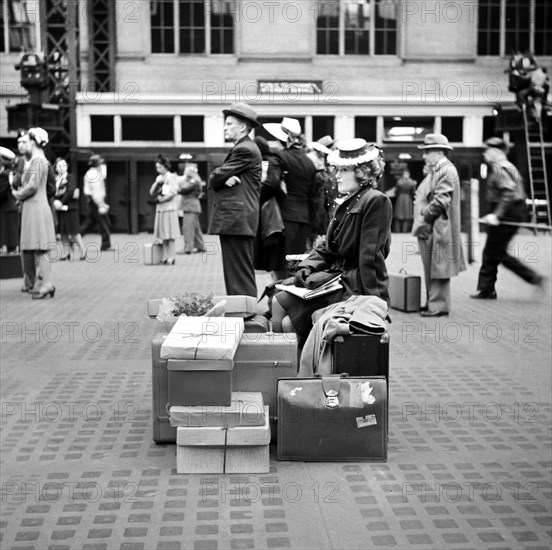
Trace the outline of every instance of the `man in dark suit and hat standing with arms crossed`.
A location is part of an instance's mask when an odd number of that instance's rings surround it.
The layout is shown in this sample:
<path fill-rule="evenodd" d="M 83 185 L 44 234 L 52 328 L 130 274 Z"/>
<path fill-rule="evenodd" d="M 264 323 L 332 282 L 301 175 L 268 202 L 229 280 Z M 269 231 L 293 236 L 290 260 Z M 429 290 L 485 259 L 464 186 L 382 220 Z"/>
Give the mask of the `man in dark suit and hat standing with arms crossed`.
<path fill-rule="evenodd" d="M 220 236 L 226 293 L 256 298 L 253 239 L 259 223 L 262 157 L 249 133 L 259 123 L 246 103 L 233 103 L 222 112 L 224 139 L 234 147 L 209 176 L 209 233 Z"/>

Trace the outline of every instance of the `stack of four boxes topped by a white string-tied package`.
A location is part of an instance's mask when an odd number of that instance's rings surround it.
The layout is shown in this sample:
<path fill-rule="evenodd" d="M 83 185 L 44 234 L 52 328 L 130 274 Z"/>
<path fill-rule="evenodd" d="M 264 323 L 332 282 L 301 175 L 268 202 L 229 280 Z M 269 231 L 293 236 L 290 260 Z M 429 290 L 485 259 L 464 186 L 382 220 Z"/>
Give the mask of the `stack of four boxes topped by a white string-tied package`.
<path fill-rule="evenodd" d="M 270 425 L 260 392 L 232 392 L 238 317 L 181 317 L 164 339 L 177 473 L 268 473 Z"/>

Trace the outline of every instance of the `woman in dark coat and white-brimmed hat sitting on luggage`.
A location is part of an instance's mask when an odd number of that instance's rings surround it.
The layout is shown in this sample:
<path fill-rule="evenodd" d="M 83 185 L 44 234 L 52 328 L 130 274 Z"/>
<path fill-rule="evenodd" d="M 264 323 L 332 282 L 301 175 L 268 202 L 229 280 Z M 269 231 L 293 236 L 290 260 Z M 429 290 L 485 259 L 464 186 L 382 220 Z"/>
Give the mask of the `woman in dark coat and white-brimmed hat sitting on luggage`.
<path fill-rule="evenodd" d="M 281 322 L 284 332 L 297 332 L 299 349 L 312 328 L 311 315 L 316 310 L 352 295 L 378 296 L 389 302 L 385 258 L 391 244 L 393 211 L 389 197 L 374 188 L 385 166 L 381 151 L 363 139 L 351 139 L 338 143 L 327 162 L 328 171 L 336 175 L 340 196 L 326 240 L 297 266 L 295 277 L 283 284 L 311 287 L 317 279 L 324 279 L 321 272 L 336 272 L 341 273 L 343 288 L 311 300 L 286 291 L 274 296 L 274 328 L 278 330 Z"/>

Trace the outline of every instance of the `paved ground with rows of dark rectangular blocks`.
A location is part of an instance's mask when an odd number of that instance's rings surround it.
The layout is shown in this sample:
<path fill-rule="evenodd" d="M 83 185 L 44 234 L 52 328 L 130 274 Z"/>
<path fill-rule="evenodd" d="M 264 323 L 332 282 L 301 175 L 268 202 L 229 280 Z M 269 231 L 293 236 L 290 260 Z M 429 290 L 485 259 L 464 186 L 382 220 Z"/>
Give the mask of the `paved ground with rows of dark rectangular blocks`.
<path fill-rule="evenodd" d="M 53 300 L 0 281 L 2 550 L 550 547 L 550 290 L 501 270 L 497 301 L 470 300 L 475 263 L 449 317 L 392 310 L 387 463 L 273 449 L 267 475 L 186 476 L 152 441 L 146 301 L 223 294 L 218 241 L 145 266 L 151 235 L 115 235 L 101 255 L 94 240 L 87 261 L 53 266 Z M 389 270 L 421 274 L 415 250 L 393 235 Z M 514 250 L 551 273 L 549 235 Z"/>

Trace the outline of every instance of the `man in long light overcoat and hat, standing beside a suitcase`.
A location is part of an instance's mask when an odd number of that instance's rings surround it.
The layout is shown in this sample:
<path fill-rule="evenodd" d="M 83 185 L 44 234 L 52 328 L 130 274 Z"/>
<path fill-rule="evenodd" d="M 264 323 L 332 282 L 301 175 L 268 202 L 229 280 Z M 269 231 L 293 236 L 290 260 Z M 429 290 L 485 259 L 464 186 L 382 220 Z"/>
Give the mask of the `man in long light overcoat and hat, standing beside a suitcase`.
<path fill-rule="evenodd" d="M 427 309 L 421 315 L 441 317 L 451 311 L 451 277 L 466 269 L 460 235 L 460 180 L 447 156 L 452 147 L 446 136 L 427 134 L 419 148 L 428 174 L 416 192 L 416 202 L 429 227 L 428 234 L 418 238 L 427 290 Z"/>

